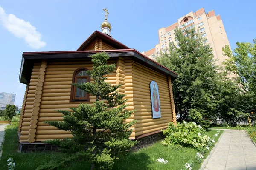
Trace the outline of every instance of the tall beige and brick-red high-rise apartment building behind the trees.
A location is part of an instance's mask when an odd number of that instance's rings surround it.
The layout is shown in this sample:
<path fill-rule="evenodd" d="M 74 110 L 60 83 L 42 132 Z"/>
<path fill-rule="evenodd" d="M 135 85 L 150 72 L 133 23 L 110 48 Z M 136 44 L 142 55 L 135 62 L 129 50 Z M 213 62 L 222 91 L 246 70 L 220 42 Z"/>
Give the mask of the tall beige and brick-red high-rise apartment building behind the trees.
<path fill-rule="evenodd" d="M 229 45 L 227 34 L 222 23 L 220 15 L 216 15 L 214 10 L 205 13 L 204 8 L 199 9 L 196 12 L 189 12 L 185 16 L 179 18 L 177 23 L 172 24 L 166 28 L 160 28 L 158 30 L 159 44 L 148 51 L 143 51 L 142 54 L 148 56 L 151 59 L 156 60 L 161 52 L 169 52 L 169 43 L 175 41 L 174 29 L 180 27 L 182 30 L 186 28 L 195 27 L 197 34 L 201 34 L 206 38 L 206 43 L 209 43 L 213 49 L 214 58 L 218 59 L 216 65 L 220 65 L 226 56 L 223 56 L 222 47 Z"/>

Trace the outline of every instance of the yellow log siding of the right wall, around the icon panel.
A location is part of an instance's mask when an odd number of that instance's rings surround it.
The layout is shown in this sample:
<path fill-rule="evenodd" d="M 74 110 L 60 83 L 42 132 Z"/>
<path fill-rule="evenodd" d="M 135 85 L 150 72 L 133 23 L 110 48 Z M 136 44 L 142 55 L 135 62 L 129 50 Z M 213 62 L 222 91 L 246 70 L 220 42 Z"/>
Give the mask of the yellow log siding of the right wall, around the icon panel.
<path fill-rule="evenodd" d="M 157 82 L 161 107 L 161 118 L 152 119 L 150 82 Z M 173 121 L 173 109 L 168 77 L 132 62 L 132 87 L 134 101 L 135 136 L 167 128 Z"/>

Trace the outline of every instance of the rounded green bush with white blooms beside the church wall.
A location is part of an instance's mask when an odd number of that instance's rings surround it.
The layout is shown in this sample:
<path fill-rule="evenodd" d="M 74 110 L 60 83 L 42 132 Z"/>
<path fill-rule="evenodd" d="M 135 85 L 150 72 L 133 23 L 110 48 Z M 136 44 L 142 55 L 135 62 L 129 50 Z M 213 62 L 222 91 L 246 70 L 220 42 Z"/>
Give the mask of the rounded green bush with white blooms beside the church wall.
<path fill-rule="evenodd" d="M 196 125 L 195 122 L 172 122 L 166 130 L 162 130 L 166 138 L 162 141 L 164 145 L 181 145 L 184 147 L 207 147 L 211 145 L 210 137 L 206 135 L 205 130 Z"/>

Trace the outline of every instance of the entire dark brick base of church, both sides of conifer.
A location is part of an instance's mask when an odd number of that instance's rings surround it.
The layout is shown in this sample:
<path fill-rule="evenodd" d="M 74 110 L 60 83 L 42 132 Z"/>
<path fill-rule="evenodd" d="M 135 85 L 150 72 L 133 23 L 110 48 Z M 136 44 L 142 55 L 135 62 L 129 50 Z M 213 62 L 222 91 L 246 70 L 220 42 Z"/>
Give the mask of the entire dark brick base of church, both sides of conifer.
<path fill-rule="evenodd" d="M 137 151 L 146 146 L 150 146 L 157 141 L 164 139 L 163 132 L 158 132 L 154 134 L 148 134 L 148 136 L 141 136 L 137 140 L 137 144 L 131 148 L 133 151 Z M 58 147 L 50 144 L 45 144 L 41 142 L 28 143 L 28 142 L 20 142 L 19 146 L 20 152 L 58 152 Z"/>

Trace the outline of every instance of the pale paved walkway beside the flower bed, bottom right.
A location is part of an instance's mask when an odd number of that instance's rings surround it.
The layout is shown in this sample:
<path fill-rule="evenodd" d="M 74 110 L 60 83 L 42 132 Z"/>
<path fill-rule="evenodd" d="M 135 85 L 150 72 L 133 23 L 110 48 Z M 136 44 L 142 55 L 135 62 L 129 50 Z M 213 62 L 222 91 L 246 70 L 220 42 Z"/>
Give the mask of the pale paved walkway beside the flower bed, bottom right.
<path fill-rule="evenodd" d="M 204 170 L 256 170 L 256 147 L 244 130 L 225 130 Z"/>

